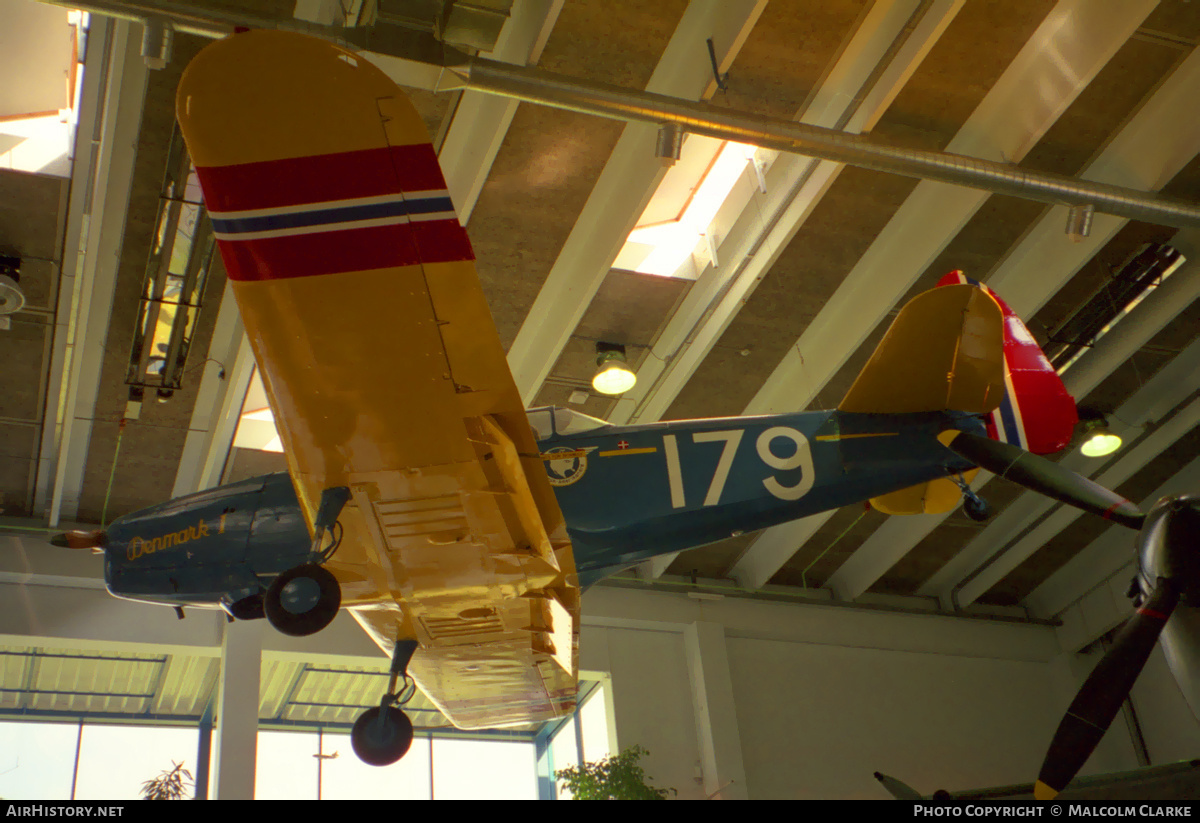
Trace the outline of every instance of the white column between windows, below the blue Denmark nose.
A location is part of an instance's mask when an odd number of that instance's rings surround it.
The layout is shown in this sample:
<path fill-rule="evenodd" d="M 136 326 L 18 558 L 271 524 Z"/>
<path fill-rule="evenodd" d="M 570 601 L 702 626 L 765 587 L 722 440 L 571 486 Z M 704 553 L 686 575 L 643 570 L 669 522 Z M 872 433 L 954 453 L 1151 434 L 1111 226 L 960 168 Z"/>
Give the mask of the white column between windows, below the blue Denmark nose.
<path fill-rule="evenodd" d="M 258 755 L 258 685 L 263 659 L 263 623 L 227 623 L 221 642 L 217 729 L 212 751 L 214 800 L 253 800 Z"/>

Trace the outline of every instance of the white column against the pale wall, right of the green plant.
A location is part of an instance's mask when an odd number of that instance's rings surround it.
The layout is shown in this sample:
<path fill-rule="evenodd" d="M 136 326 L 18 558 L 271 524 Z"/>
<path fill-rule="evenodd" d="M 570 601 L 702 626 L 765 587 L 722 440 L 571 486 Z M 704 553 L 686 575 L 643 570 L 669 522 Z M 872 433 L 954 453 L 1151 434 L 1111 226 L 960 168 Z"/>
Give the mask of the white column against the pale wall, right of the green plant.
<path fill-rule="evenodd" d="M 684 629 L 683 643 L 696 713 L 704 794 L 725 800 L 748 800 L 725 627 L 719 623 L 697 620 Z"/>

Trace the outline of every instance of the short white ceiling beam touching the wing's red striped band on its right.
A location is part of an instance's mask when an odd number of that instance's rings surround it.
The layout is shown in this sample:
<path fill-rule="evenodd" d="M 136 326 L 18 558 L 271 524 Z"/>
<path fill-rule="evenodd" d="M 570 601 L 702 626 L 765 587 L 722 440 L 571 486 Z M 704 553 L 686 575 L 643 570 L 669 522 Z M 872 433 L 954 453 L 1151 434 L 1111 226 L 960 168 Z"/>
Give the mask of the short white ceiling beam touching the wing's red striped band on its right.
<path fill-rule="evenodd" d="M 517 66 L 536 64 L 564 1 L 516 0 L 494 50 L 487 56 Z M 509 97 L 470 90 L 458 98 L 450 128 L 438 149 L 438 161 L 463 226 L 470 220 L 518 104 Z"/>

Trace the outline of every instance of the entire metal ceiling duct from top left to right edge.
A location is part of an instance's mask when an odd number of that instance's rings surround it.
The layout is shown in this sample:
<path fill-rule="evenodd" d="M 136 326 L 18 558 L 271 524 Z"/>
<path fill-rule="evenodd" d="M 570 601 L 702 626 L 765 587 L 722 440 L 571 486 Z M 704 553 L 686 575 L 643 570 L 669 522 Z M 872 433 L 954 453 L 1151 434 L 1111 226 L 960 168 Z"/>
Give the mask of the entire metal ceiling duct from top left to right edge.
<path fill-rule="evenodd" d="M 469 88 L 613 120 L 677 124 L 694 134 L 751 143 L 888 174 L 936 180 L 1051 205 L 1091 205 L 1096 211 L 1159 226 L 1200 228 L 1200 205 L 1171 200 L 1152 192 L 1032 172 L 978 157 L 901 149 L 877 143 L 869 136 L 847 134 L 792 120 L 731 112 L 707 103 L 470 58 L 439 43 L 427 32 L 406 29 L 386 20 L 379 20 L 370 28 L 346 29 L 163 0 L 47 1 L 92 10 L 101 14 L 166 20 L 181 31 L 210 37 L 224 36 L 238 25 L 304 31 L 346 48 L 389 54 L 410 64 L 424 65 L 434 70 L 434 73 L 440 68 L 442 76 L 436 82 L 434 91 Z"/>

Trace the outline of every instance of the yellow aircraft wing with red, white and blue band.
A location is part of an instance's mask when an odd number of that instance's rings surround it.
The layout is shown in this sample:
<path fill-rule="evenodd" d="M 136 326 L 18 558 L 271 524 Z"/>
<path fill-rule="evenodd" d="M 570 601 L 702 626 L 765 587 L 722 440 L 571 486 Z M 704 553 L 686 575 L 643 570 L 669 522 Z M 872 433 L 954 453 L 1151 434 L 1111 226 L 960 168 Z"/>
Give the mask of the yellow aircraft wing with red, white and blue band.
<path fill-rule="evenodd" d="M 342 603 L 464 728 L 574 708 L 562 512 L 425 126 L 361 58 L 278 31 L 205 48 L 179 122 L 310 529 Z"/>

